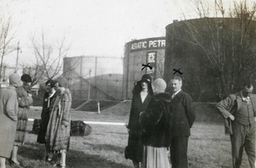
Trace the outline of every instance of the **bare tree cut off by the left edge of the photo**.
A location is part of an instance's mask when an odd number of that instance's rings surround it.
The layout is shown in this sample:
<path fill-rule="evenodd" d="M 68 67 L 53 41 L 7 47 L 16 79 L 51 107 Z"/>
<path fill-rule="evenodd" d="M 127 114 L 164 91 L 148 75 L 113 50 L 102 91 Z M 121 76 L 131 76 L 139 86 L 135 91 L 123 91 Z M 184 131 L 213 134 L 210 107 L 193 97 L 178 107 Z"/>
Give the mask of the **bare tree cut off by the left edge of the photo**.
<path fill-rule="evenodd" d="M 12 31 L 12 20 L 10 16 L 0 14 L 0 80 L 2 81 L 3 58 L 14 51 L 10 43 L 15 38 L 15 32 Z"/>

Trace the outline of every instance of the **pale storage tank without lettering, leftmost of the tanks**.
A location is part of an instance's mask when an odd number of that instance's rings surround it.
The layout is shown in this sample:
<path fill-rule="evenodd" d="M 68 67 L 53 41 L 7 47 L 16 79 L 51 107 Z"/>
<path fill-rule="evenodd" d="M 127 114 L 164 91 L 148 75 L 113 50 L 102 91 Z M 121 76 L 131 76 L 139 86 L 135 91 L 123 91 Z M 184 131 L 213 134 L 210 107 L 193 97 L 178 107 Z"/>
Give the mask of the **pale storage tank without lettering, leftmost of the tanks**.
<path fill-rule="evenodd" d="M 64 58 L 63 76 L 76 99 L 121 99 L 123 59 L 101 56 Z"/>

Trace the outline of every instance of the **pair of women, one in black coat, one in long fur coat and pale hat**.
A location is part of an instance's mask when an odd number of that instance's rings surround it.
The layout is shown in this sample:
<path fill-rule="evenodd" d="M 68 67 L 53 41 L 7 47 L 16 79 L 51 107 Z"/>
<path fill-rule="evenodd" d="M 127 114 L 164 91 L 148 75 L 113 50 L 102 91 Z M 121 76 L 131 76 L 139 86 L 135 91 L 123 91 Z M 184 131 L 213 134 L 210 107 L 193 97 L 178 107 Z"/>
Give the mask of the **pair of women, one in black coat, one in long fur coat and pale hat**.
<path fill-rule="evenodd" d="M 37 142 L 45 146 L 44 160 L 50 162 L 57 154 L 54 166 L 64 168 L 70 142 L 72 95 L 63 76 L 46 81 L 45 87 Z"/>

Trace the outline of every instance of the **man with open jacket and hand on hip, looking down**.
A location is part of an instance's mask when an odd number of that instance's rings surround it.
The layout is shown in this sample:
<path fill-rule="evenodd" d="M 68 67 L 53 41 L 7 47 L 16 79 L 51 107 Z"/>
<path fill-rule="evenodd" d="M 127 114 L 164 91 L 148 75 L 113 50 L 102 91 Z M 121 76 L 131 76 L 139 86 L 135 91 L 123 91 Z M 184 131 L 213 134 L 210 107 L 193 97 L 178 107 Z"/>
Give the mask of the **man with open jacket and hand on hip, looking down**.
<path fill-rule="evenodd" d="M 231 94 L 216 107 L 225 119 L 225 133 L 230 134 L 233 168 L 241 166 L 245 148 L 251 168 L 255 168 L 256 95 L 253 85 L 246 83 L 241 92 Z"/>

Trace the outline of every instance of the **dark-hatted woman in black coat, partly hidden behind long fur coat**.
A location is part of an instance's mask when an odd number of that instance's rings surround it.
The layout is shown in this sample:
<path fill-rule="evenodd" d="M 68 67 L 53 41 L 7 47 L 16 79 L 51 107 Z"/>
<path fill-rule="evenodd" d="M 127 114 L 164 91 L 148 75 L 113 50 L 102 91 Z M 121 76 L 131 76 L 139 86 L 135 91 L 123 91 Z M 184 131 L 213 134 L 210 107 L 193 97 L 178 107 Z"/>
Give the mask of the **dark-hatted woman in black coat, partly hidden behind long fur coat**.
<path fill-rule="evenodd" d="M 55 98 L 60 92 L 55 91 L 55 81 L 48 80 L 45 82 L 45 87 L 47 92 L 44 93 L 44 102 L 43 102 L 43 109 L 41 113 L 41 123 L 38 132 L 38 143 L 43 143 L 45 145 L 45 154 L 44 160 L 51 161 L 52 154 L 49 153 L 49 145 L 45 142 L 45 134 L 47 131 L 47 126 L 49 123 L 49 115 L 53 109 L 53 104 L 55 103 Z"/>

